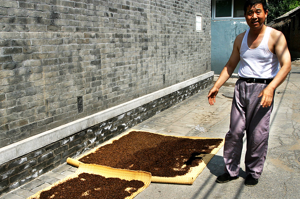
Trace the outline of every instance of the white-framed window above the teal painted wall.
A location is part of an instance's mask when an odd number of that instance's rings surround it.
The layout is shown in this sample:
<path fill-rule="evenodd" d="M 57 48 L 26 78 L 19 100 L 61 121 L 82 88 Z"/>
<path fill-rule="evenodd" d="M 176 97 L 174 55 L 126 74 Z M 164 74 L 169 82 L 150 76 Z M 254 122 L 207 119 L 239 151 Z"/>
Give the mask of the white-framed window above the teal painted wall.
<path fill-rule="evenodd" d="M 213 0 L 212 18 L 218 19 L 244 19 L 244 1 L 241 0 Z"/>

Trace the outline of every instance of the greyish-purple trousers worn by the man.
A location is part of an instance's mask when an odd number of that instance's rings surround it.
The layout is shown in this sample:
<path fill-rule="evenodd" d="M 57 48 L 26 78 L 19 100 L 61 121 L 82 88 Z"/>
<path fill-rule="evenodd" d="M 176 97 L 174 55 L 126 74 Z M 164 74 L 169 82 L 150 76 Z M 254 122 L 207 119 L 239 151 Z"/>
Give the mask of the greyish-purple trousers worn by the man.
<path fill-rule="evenodd" d="M 257 97 L 267 84 L 247 83 L 238 80 L 235 84 L 231 107 L 230 127 L 225 136 L 225 172 L 237 176 L 243 147 L 244 131 L 247 137 L 245 155 L 246 174 L 259 178 L 267 155 L 270 115 L 273 108 L 263 108 Z"/>

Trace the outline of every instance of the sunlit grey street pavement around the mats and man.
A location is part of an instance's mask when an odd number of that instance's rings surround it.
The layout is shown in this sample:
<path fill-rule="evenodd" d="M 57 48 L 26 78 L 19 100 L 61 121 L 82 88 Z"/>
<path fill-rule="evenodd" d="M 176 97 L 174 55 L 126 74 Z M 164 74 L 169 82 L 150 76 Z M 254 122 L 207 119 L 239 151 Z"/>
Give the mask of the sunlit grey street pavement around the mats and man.
<path fill-rule="evenodd" d="M 292 71 L 276 90 L 271 115 L 267 159 L 259 184 L 244 186 L 243 150 L 238 180 L 219 184 L 223 173 L 223 147 L 207 164 L 193 185 L 151 183 L 137 199 L 149 198 L 299 198 L 300 195 L 300 61 L 292 62 Z M 217 78 L 217 77 L 216 77 Z M 217 102 L 210 106 L 206 95 L 210 88 L 197 93 L 132 129 L 168 135 L 225 137 L 229 128 L 230 98 L 235 78 L 221 87 Z M 224 94 L 224 95 L 222 95 Z M 226 97 L 227 96 L 227 97 Z M 205 132 L 196 130 L 199 125 Z M 244 137 L 245 144 L 246 136 Z M 244 147 L 245 149 L 245 147 Z M 0 199 L 23 199 L 72 174 L 76 167 L 63 164 L 35 180 L 9 192 Z"/>

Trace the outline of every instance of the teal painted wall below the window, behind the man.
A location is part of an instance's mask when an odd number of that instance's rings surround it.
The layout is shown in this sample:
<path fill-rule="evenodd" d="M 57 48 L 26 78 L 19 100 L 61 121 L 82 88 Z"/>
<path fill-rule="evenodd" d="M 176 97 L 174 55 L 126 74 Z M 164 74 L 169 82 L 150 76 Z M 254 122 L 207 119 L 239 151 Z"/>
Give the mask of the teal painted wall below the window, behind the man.
<path fill-rule="evenodd" d="M 227 63 L 233 48 L 235 37 L 246 31 L 249 26 L 246 20 L 212 21 L 212 71 L 220 74 Z M 238 66 L 234 73 L 238 72 Z"/>

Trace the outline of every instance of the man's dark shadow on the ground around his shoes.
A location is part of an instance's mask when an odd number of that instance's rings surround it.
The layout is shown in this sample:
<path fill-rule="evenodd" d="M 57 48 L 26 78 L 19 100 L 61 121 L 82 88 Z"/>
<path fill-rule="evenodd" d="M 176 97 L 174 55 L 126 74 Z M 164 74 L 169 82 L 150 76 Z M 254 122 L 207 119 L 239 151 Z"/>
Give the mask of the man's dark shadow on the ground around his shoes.
<path fill-rule="evenodd" d="M 209 169 L 209 171 L 216 177 L 218 177 L 219 175 L 222 175 L 224 173 L 224 159 L 222 156 L 217 156 L 215 155 L 214 157 L 212 157 L 212 159 L 208 162 L 208 164 L 206 165 L 206 167 Z M 239 177 L 242 177 L 244 179 L 246 179 L 247 175 L 246 172 L 243 171 L 242 168 L 239 169 L 239 173 L 238 173 Z"/>

